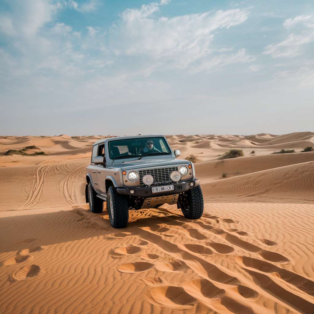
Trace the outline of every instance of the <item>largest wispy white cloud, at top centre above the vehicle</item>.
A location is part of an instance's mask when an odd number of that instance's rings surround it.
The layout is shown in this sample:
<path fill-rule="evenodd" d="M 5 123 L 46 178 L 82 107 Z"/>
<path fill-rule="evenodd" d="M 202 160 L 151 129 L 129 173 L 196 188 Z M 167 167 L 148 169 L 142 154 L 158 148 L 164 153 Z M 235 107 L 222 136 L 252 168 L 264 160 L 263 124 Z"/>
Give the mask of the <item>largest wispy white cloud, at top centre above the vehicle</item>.
<path fill-rule="evenodd" d="M 153 18 L 157 11 L 159 3 L 150 3 L 122 13 L 122 20 L 113 31 L 119 38 L 115 41 L 116 53 L 146 55 L 170 62 L 173 68 L 186 68 L 213 52 L 210 44 L 214 32 L 241 24 L 249 15 L 247 10 L 233 9 Z"/>

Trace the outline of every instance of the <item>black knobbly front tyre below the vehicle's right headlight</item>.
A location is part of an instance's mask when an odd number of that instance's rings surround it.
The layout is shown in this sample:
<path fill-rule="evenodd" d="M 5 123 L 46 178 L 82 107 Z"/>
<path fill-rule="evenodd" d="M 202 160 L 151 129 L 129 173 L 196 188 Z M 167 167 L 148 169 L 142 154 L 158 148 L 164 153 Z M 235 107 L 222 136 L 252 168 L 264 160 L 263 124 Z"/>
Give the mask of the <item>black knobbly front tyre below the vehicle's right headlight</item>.
<path fill-rule="evenodd" d="M 201 218 L 204 211 L 204 199 L 201 187 L 198 185 L 190 191 L 180 194 L 179 204 L 185 218 Z"/>

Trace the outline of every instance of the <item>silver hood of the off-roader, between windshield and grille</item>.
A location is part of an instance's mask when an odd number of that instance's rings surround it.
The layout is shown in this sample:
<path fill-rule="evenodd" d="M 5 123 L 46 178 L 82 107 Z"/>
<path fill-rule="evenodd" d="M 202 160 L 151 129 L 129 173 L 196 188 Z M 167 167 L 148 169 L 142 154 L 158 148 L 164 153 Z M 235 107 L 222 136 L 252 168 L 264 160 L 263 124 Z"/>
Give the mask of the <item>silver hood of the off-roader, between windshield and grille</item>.
<path fill-rule="evenodd" d="M 140 160 L 127 160 L 124 162 L 114 163 L 110 167 L 114 168 L 122 168 L 123 170 L 135 169 L 135 168 L 149 168 L 156 166 L 174 166 L 181 164 L 189 164 L 188 160 L 182 159 L 166 159 L 166 158 L 158 158 L 158 159 L 140 159 Z"/>

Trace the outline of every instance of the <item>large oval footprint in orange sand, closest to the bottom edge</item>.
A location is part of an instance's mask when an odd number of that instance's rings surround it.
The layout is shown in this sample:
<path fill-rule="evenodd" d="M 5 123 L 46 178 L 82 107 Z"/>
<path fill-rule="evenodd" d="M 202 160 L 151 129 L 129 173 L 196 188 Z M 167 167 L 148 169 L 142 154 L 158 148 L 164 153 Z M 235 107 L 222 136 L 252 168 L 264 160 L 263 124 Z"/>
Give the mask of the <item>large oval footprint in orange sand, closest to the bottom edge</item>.
<path fill-rule="evenodd" d="M 186 310 L 194 306 L 196 299 L 182 287 L 157 286 L 150 290 L 152 303 L 175 310 Z"/>

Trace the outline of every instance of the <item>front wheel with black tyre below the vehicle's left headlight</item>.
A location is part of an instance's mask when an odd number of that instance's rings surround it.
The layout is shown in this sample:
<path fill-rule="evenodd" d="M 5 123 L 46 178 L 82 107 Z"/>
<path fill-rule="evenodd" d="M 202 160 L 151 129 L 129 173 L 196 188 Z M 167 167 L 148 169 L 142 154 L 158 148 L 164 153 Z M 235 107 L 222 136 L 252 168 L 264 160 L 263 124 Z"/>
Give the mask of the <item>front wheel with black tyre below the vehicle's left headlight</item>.
<path fill-rule="evenodd" d="M 129 207 L 127 198 L 116 192 L 111 186 L 107 192 L 107 210 L 110 224 L 113 228 L 125 228 L 129 220 Z"/>

